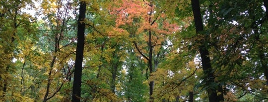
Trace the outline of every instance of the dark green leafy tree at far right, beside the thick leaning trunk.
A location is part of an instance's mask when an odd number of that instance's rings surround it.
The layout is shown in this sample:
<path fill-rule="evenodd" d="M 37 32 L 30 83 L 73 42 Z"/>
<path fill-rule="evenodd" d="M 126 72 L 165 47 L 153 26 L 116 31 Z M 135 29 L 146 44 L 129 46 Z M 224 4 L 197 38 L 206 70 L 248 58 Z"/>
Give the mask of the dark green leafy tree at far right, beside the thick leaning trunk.
<path fill-rule="evenodd" d="M 263 1 L 250 0 L 245 3 L 239 0 L 226 2 L 216 0 L 213 2 L 211 7 L 213 19 L 211 20 L 214 23 L 211 24 L 213 27 L 210 27 L 212 29 L 210 43 L 213 46 L 211 51 L 214 52 L 212 64 L 217 67 L 216 80 L 224 83 L 226 87 L 242 88 L 241 93 L 228 91 L 232 88 L 225 89 L 228 94 L 237 95 L 237 100 L 243 99 L 243 96 L 248 94 L 253 94 L 258 99 L 265 99 L 263 96 L 266 95 L 262 94 L 262 91 L 256 91 L 256 87 L 260 87 L 259 85 L 265 81 L 265 68 L 263 68 L 260 51 L 266 49 L 266 46 L 261 44 L 266 43 L 262 42 L 266 37 L 258 39 L 258 36 L 265 35 L 266 30 L 264 22 L 266 13 L 261 7 L 264 4 Z M 253 2 L 257 3 L 253 4 Z M 257 46 L 262 46 L 264 49 Z M 248 87 L 251 87 L 251 90 L 248 90 Z M 262 87 L 262 90 L 267 90 L 267 88 Z"/>

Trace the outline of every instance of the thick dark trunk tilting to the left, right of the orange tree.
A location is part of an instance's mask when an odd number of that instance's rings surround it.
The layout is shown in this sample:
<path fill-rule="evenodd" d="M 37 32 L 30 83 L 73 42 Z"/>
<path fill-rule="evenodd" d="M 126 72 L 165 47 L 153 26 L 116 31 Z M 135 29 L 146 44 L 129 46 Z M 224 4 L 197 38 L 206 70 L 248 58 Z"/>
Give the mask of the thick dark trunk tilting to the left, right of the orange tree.
<path fill-rule="evenodd" d="M 203 31 L 200 4 L 199 4 L 199 0 L 191 0 L 191 1 L 192 1 L 192 9 L 194 12 L 196 32 L 199 33 Z M 213 75 L 213 71 L 212 71 L 211 64 L 210 64 L 210 58 L 208 57 L 209 53 L 208 53 L 208 49 L 205 47 L 205 43 L 201 44 L 201 46 L 199 47 L 199 51 L 201 55 L 203 73 L 204 75 L 206 75 L 206 77 L 204 78 L 205 85 L 210 86 L 212 83 L 215 83 L 214 81 L 215 77 Z M 209 102 L 223 101 L 222 100 L 223 98 L 219 98 L 219 96 L 217 95 L 217 88 L 207 88 L 206 91 L 208 93 Z"/>

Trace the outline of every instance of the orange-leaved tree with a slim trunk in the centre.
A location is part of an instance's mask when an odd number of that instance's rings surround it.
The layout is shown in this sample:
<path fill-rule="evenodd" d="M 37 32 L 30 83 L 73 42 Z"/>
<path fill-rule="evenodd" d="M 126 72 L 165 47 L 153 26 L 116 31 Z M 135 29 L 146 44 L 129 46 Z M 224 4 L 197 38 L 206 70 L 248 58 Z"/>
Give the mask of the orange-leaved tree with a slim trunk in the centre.
<path fill-rule="evenodd" d="M 157 4 L 154 1 L 126 0 L 112 12 L 112 14 L 117 15 L 116 26 L 119 30 L 128 32 L 136 51 L 148 63 L 149 76 L 157 69 L 158 57 L 161 55 L 159 49 L 166 40 L 167 34 L 172 34 L 178 30 L 176 24 L 171 24 L 165 17 L 164 10 L 166 8 L 161 9 L 163 10 L 161 11 L 157 9 L 158 6 L 155 3 Z M 140 10 L 135 11 L 135 9 Z M 155 11 L 158 12 L 155 14 Z M 154 81 L 149 80 L 148 84 L 150 102 L 153 102 Z"/>

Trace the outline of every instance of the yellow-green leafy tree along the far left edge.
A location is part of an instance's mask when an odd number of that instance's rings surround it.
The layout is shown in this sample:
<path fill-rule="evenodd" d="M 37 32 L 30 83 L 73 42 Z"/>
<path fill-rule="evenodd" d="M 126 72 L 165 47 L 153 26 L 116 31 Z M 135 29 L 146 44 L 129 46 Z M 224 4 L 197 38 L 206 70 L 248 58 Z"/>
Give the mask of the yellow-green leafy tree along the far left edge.
<path fill-rule="evenodd" d="M 34 35 L 34 29 L 28 29 L 34 27 L 31 24 L 34 19 L 22 9 L 26 5 L 32 4 L 32 1 L 0 1 L 0 20 L 4 22 L 0 24 L 0 53 L 2 55 L 0 61 L 0 101 L 9 101 L 14 97 L 14 95 L 8 94 L 12 92 L 10 89 L 15 87 L 12 79 L 16 71 L 16 64 L 13 60 L 16 59 L 16 53 L 19 52 L 17 46 L 24 38 Z M 25 35 L 22 35 L 23 32 Z"/>

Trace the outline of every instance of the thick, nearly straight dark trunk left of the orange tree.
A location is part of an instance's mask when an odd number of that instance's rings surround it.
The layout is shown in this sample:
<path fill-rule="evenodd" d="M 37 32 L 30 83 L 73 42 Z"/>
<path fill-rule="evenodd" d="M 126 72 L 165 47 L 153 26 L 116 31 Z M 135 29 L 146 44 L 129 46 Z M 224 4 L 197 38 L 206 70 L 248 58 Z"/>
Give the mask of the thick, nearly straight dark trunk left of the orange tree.
<path fill-rule="evenodd" d="M 77 46 L 76 46 L 76 56 L 74 64 L 74 77 L 72 86 L 72 100 L 71 102 L 80 102 L 81 97 L 81 82 L 82 82 L 82 63 L 83 63 L 83 51 L 84 51 L 84 33 L 85 24 L 83 20 L 85 19 L 86 3 L 80 1 L 79 8 L 79 18 L 78 18 L 78 29 L 77 29 Z"/>

